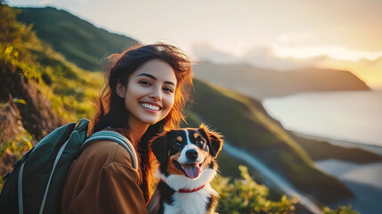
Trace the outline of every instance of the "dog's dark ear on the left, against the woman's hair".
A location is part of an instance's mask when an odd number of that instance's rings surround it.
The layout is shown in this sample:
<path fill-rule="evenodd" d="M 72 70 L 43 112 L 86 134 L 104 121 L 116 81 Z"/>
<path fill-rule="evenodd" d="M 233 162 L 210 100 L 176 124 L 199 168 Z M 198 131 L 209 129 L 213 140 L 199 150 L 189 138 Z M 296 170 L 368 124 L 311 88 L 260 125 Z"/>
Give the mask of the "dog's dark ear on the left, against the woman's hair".
<path fill-rule="evenodd" d="M 166 163 L 168 159 L 167 134 L 168 132 L 164 132 L 158 136 L 154 136 L 150 140 L 151 151 L 154 153 L 155 157 L 157 157 L 161 165 Z"/>

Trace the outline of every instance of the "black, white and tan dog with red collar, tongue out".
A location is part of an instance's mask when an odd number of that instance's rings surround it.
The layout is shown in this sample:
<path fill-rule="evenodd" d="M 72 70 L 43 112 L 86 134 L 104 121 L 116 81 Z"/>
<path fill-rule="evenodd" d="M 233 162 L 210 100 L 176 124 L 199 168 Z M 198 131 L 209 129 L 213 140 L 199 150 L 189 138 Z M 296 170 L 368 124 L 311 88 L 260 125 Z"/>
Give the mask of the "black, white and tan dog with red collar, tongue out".
<path fill-rule="evenodd" d="M 151 140 L 159 182 L 149 213 L 215 213 L 219 196 L 209 182 L 217 173 L 215 158 L 222 150 L 222 137 L 201 124 L 167 131 Z"/>

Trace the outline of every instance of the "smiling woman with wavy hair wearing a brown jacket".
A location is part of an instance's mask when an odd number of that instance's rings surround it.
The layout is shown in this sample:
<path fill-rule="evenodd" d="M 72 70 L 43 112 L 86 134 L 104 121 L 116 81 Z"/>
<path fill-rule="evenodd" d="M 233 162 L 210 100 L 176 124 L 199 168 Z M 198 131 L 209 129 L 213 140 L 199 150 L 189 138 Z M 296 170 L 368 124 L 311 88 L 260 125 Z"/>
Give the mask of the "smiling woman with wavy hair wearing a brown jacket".
<path fill-rule="evenodd" d="M 154 163 L 148 141 L 178 128 L 189 100 L 191 62 L 175 46 L 138 46 L 109 59 L 108 85 L 91 134 L 108 129 L 126 136 L 140 169 L 133 169 L 130 155 L 117 143 L 93 142 L 69 169 L 62 213 L 146 213 Z"/>

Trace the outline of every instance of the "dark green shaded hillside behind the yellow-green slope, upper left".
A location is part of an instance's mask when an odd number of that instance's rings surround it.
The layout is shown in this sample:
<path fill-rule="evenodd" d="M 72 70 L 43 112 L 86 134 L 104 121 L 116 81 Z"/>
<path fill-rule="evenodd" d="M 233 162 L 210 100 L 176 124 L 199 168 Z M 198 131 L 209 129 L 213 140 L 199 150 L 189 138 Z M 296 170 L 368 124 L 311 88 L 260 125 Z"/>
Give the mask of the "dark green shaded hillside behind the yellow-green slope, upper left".
<path fill-rule="evenodd" d="M 136 43 L 133 38 L 98 29 L 69 12 L 53 7 L 20 8 L 17 19 L 32 24 L 37 37 L 85 70 L 102 70 L 103 57 L 120 53 Z"/>

